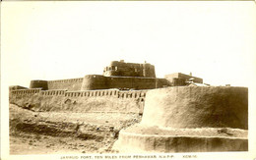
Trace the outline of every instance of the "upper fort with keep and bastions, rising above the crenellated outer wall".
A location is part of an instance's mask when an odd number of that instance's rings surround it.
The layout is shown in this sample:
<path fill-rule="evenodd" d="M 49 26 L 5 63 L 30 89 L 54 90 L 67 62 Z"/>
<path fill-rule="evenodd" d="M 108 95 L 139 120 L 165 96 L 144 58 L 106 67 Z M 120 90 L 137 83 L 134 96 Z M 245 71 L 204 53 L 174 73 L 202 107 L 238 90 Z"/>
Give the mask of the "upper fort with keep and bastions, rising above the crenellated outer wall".
<path fill-rule="evenodd" d="M 165 76 L 165 79 L 156 78 L 155 66 L 144 63 L 125 63 L 112 61 L 105 67 L 102 75 L 87 75 L 84 78 L 69 80 L 32 80 L 30 88 L 42 90 L 64 89 L 96 90 L 96 89 L 154 89 L 165 86 L 186 85 L 189 79 L 203 83 L 202 79 L 176 73 Z"/>

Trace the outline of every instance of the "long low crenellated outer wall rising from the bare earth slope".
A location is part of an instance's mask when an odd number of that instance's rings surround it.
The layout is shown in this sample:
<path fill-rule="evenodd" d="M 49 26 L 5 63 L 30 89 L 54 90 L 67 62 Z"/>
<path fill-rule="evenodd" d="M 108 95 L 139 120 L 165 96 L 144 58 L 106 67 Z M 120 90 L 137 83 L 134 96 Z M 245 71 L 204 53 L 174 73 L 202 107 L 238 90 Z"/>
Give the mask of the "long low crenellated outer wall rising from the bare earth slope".
<path fill-rule="evenodd" d="M 34 111 L 116 112 L 142 114 L 148 90 L 42 90 L 18 89 L 10 92 L 10 103 Z"/>

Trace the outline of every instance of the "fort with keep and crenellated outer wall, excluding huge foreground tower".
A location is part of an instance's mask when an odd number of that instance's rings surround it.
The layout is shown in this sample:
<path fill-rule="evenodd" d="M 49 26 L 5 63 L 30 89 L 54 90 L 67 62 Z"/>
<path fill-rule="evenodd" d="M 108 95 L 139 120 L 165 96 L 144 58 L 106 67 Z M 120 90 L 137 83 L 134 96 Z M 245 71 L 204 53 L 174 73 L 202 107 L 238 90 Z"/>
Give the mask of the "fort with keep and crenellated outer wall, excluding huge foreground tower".
<path fill-rule="evenodd" d="M 125 63 L 124 60 L 112 61 L 103 69 L 102 75 L 86 75 L 84 78 L 69 80 L 31 80 L 29 88 L 10 86 L 10 102 L 40 111 L 47 111 L 49 108 L 53 111 L 66 110 L 67 107 L 64 106 L 72 105 L 76 106 L 76 110 L 83 106 L 85 112 L 142 114 L 149 90 L 188 85 L 191 79 L 203 84 L 202 79 L 181 73 L 166 75 L 164 79 L 156 78 L 155 66 L 147 62 L 137 64 Z M 34 103 L 35 99 L 40 100 Z M 97 109 L 88 103 L 98 99 L 100 103 Z M 67 101 L 76 104 L 67 104 Z"/>

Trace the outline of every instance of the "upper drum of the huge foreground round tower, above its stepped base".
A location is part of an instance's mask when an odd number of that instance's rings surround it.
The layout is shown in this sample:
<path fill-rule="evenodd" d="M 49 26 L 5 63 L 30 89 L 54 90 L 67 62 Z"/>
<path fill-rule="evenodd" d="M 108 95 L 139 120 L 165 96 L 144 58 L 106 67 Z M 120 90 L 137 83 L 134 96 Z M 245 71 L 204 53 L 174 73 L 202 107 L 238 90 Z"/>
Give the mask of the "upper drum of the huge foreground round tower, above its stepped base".
<path fill-rule="evenodd" d="M 167 87 L 149 91 L 145 105 L 141 124 L 147 126 L 248 129 L 246 87 Z"/>

